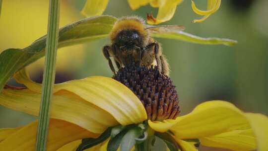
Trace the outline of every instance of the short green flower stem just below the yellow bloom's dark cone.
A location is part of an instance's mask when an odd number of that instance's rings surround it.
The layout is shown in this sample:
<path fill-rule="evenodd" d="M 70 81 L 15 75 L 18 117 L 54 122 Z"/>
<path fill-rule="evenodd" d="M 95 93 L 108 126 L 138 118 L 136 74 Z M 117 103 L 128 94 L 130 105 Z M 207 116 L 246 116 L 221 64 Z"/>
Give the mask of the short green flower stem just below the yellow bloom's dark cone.
<path fill-rule="evenodd" d="M 136 144 L 135 151 L 151 151 L 152 141 L 154 139 L 154 130 L 152 130 L 148 126 L 147 133 L 148 133 L 147 139 L 141 144 Z"/>

